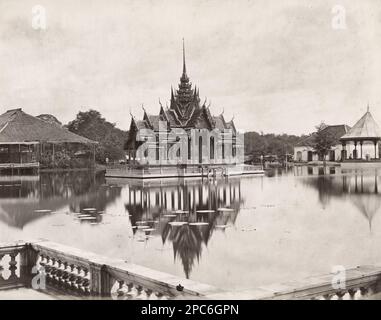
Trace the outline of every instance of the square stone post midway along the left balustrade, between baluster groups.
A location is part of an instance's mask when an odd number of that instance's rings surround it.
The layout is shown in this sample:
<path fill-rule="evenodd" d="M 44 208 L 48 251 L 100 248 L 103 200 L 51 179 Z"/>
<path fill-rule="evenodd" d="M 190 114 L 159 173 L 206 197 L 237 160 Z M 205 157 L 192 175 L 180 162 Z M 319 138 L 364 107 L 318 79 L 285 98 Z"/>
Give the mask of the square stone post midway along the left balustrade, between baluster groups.
<path fill-rule="evenodd" d="M 98 263 L 90 263 L 90 294 L 110 297 L 112 286 L 112 278 L 107 267 Z"/>

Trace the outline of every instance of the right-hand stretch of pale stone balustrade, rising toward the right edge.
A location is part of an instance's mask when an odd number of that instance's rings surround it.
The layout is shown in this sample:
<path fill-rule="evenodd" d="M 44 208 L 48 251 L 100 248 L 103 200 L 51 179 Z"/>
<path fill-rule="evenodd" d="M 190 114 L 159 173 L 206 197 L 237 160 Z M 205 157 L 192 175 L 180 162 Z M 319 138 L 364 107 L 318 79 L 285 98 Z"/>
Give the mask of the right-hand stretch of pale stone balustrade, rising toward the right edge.
<path fill-rule="evenodd" d="M 220 292 L 208 299 L 248 300 L 360 300 L 381 292 L 381 266 L 359 266 L 345 270 L 340 282 L 335 274 L 312 276 L 253 290 Z"/>

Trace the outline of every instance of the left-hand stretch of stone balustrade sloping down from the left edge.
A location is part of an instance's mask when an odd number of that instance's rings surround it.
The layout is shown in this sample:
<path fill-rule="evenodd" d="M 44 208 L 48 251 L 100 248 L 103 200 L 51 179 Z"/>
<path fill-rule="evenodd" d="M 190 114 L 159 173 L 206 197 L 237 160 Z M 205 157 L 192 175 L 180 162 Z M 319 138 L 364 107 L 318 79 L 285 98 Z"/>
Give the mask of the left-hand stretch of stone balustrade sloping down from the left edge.
<path fill-rule="evenodd" d="M 12 270 L 4 285 L 0 282 L 0 289 L 31 287 L 33 278 L 43 277 L 46 292 L 55 296 L 194 299 L 219 292 L 206 284 L 50 241 L 20 242 L 0 248 L 0 256 L 11 257 Z M 16 272 L 18 255 L 20 271 Z"/>

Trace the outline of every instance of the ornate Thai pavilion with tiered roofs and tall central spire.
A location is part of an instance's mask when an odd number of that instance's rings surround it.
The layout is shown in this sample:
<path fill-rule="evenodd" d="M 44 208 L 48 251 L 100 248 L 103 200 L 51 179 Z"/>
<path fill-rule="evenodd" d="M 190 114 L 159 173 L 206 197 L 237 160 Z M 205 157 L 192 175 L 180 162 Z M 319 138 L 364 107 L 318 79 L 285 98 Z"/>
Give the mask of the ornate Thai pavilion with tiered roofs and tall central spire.
<path fill-rule="evenodd" d="M 129 137 L 125 144 L 128 158 L 130 163 L 139 163 L 139 155 L 137 155 L 137 149 L 142 145 L 142 142 L 137 138 L 138 132 L 141 130 L 152 130 L 156 135 L 156 141 L 151 141 L 151 148 L 156 152 L 156 160 L 161 155 L 168 155 L 168 150 L 173 145 L 173 141 L 168 138 L 168 146 L 166 150 L 162 150 L 163 147 L 157 142 L 159 135 L 165 131 L 169 133 L 171 130 L 182 129 L 186 132 L 186 138 L 188 138 L 188 145 L 185 148 L 187 154 L 186 161 L 182 163 L 186 164 L 216 164 L 220 159 L 217 152 L 222 150 L 222 158 L 224 154 L 229 154 L 234 157 L 235 154 L 235 139 L 236 128 L 234 126 L 233 119 L 225 121 L 223 113 L 218 116 L 212 116 L 210 113 L 209 105 L 206 105 L 206 99 L 203 103 L 200 101 L 199 89 L 196 86 L 192 86 L 187 75 L 186 63 L 185 63 L 185 49 L 183 43 L 183 72 L 180 78 L 180 83 L 177 90 L 171 88 L 171 100 L 170 106 L 164 108 L 160 103 L 160 110 L 158 115 L 148 114 L 144 109 L 144 116 L 142 120 L 137 120 L 131 114 L 131 124 L 129 129 Z M 160 127 L 160 124 L 165 124 L 164 129 Z M 193 129 L 193 130 L 192 130 Z M 220 132 L 222 135 L 217 137 L 208 137 L 192 139 L 192 131 L 209 131 Z M 226 133 L 229 135 L 226 135 Z M 221 136 L 226 135 L 220 139 Z M 177 138 L 177 141 L 179 139 Z M 192 140 L 192 141 L 191 141 Z M 221 141 L 222 140 L 222 141 Z M 227 149 L 228 148 L 228 149 Z M 217 150 L 218 149 L 218 150 Z M 181 150 L 182 152 L 182 150 Z M 220 152 L 221 153 L 221 152 Z M 160 156 L 159 156 L 160 154 Z M 180 151 L 178 151 L 180 157 Z M 158 164 L 158 161 L 153 161 Z M 152 164 L 152 163 L 150 163 Z"/>

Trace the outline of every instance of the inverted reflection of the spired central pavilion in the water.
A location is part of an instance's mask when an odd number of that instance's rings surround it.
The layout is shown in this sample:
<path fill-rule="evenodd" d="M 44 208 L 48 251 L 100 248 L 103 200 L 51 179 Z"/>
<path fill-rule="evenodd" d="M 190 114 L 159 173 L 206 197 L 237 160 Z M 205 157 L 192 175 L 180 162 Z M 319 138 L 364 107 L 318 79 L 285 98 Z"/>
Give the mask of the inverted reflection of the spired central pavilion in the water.
<path fill-rule="evenodd" d="M 133 233 L 171 242 L 174 259 L 181 260 L 187 278 L 201 258 L 202 246 L 216 230 L 234 225 L 243 203 L 239 178 L 131 182 L 128 198 L 125 207 Z"/>

